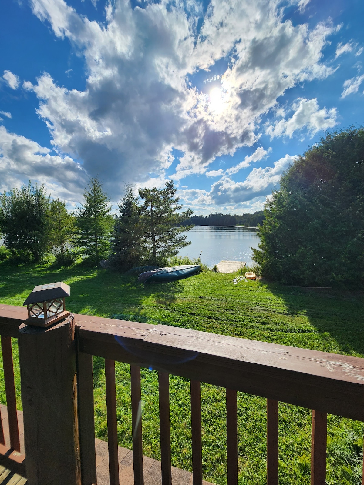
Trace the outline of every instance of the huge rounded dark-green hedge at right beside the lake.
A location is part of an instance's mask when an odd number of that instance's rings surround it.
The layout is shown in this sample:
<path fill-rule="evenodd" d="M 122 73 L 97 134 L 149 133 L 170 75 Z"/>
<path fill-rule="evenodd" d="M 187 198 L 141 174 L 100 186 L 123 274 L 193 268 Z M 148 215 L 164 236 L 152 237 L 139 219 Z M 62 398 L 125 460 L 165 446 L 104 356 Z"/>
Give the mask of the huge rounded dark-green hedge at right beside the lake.
<path fill-rule="evenodd" d="M 325 134 L 281 177 L 253 259 L 271 280 L 364 286 L 364 129 Z"/>

